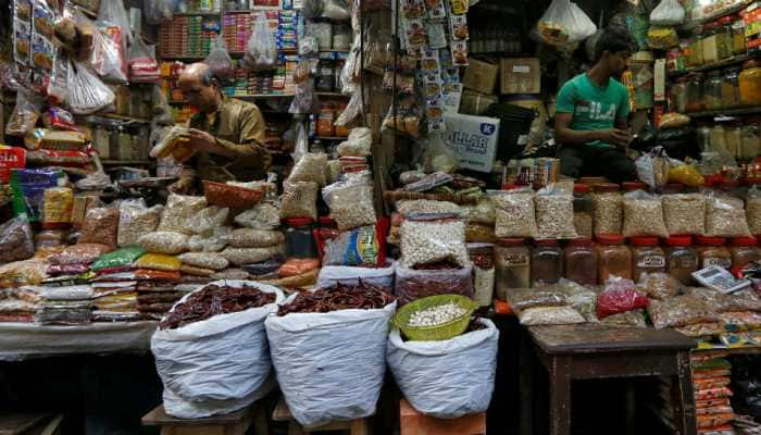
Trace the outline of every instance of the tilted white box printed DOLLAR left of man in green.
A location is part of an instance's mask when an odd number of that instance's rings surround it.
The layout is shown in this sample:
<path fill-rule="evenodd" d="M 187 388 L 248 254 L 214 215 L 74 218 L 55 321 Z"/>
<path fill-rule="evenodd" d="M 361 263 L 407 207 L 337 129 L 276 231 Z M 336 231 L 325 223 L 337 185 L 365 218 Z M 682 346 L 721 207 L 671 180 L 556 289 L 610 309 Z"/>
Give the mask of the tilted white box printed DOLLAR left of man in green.
<path fill-rule="evenodd" d="M 445 114 L 448 144 L 460 158 L 460 169 L 490 173 L 499 146 L 499 120 Z"/>

